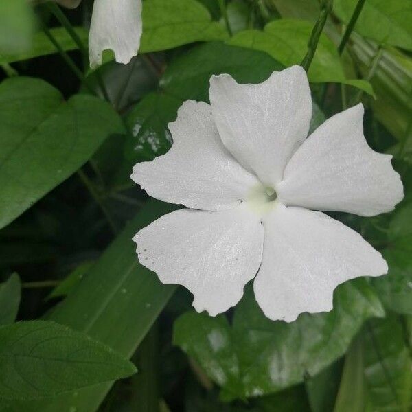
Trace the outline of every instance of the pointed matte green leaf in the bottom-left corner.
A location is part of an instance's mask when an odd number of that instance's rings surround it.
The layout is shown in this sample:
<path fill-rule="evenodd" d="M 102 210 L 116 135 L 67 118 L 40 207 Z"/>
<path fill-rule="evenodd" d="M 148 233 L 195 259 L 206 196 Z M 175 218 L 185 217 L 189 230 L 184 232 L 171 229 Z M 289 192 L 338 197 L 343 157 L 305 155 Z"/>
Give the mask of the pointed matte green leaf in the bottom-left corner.
<path fill-rule="evenodd" d="M 0 397 L 39 398 L 126 378 L 135 366 L 86 334 L 47 321 L 0 328 Z"/>

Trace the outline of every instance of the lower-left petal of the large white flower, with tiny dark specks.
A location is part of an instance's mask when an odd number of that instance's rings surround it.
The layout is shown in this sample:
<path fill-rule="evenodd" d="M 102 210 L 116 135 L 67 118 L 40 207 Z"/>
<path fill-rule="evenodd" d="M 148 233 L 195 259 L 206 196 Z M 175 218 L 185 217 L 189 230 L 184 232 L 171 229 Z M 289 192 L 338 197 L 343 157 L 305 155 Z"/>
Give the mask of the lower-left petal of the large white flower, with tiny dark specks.
<path fill-rule="evenodd" d="M 194 295 L 194 308 L 215 316 L 236 305 L 255 276 L 263 237 L 259 218 L 238 206 L 230 211 L 174 211 L 141 229 L 133 240 L 141 264 L 161 282 L 185 286 Z"/>

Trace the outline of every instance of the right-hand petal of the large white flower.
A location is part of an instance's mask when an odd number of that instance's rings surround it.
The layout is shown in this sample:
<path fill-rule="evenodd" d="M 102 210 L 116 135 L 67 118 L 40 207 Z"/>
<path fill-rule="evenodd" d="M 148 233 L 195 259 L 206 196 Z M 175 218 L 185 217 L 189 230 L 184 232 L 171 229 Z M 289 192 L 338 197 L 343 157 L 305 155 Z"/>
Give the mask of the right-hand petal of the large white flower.
<path fill-rule="evenodd" d="M 286 205 L 374 216 L 403 198 L 391 155 L 374 152 L 363 135 L 358 104 L 324 122 L 286 166 L 277 196 Z"/>

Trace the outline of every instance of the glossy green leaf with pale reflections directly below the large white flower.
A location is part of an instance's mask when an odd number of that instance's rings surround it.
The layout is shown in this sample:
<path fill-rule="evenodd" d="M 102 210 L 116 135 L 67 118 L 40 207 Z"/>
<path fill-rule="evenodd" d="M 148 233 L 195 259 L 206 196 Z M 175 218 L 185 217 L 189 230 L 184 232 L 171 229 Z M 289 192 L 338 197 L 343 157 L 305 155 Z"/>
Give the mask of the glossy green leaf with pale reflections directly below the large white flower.
<path fill-rule="evenodd" d="M 223 315 L 187 312 L 174 324 L 174 343 L 222 386 L 222 398 L 246 398 L 317 374 L 345 353 L 365 319 L 382 315 L 365 279 L 339 286 L 332 312 L 301 314 L 293 323 L 264 317 L 249 290 L 231 328 Z"/>

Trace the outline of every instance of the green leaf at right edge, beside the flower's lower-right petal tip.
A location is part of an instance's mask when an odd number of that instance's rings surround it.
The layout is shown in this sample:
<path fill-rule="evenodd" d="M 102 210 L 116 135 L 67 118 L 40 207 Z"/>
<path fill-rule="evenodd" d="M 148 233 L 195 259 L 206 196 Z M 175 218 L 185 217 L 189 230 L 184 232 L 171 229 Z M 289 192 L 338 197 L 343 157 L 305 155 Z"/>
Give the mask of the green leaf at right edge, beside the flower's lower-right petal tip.
<path fill-rule="evenodd" d="M 388 247 L 382 254 L 389 272 L 374 279 L 374 285 L 387 308 L 412 314 L 412 203 L 393 214 L 388 238 Z"/>

